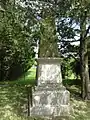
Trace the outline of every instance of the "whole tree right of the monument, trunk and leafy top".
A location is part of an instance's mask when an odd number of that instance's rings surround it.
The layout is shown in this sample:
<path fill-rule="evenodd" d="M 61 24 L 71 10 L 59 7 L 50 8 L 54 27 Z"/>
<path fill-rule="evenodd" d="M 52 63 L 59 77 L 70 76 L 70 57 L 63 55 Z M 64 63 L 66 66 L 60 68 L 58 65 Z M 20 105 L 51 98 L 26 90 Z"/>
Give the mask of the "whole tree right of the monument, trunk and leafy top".
<path fill-rule="evenodd" d="M 90 26 L 86 29 L 86 25 L 89 24 L 89 13 L 90 13 L 90 1 L 82 0 L 74 3 L 73 13 L 75 14 L 77 22 L 80 24 L 80 65 L 81 65 L 81 81 L 82 81 L 82 98 L 90 99 L 89 95 L 89 72 L 88 72 L 88 54 L 87 54 L 87 43 L 88 43 L 88 32 Z M 73 14 L 73 15 L 74 15 Z"/>

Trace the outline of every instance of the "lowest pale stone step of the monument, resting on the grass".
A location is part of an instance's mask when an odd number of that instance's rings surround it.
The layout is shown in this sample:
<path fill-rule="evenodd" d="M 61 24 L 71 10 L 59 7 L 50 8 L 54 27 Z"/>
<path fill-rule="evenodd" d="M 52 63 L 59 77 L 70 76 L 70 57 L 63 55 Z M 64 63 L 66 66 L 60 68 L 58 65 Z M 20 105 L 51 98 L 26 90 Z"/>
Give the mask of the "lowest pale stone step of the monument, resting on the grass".
<path fill-rule="evenodd" d="M 32 116 L 68 116 L 70 112 L 70 105 L 39 105 L 31 108 Z"/>

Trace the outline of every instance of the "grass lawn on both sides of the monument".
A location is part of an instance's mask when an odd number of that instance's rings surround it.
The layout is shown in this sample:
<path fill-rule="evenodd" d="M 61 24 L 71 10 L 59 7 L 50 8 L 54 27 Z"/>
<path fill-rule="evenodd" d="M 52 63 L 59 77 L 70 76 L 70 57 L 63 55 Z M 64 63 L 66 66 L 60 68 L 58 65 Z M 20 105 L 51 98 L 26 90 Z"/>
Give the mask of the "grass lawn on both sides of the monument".
<path fill-rule="evenodd" d="M 36 69 L 32 68 L 18 80 L 0 82 L 0 120 L 31 120 L 27 117 L 26 86 L 35 84 L 35 76 Z M 83 101 L 80 98 L 80 88 L 73 84 L 73 80 L 65 81 L 65 84 L 71 93 L 70 120 L 90 120 L 90 101 Z"/>

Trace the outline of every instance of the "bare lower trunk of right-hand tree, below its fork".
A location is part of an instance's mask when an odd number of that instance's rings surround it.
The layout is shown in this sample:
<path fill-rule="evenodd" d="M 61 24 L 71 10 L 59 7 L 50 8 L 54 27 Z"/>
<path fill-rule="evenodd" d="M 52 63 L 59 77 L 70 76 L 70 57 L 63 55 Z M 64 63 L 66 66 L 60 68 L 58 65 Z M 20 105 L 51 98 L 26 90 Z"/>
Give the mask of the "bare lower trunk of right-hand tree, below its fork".
<path fill-rule="evenodd" d="M 82 98 L 88 99 L 89 71 L 88 71 L 88 54 L 87 40 L 80 43 L 80 62 L 81 62 L 81 92 Z"/>

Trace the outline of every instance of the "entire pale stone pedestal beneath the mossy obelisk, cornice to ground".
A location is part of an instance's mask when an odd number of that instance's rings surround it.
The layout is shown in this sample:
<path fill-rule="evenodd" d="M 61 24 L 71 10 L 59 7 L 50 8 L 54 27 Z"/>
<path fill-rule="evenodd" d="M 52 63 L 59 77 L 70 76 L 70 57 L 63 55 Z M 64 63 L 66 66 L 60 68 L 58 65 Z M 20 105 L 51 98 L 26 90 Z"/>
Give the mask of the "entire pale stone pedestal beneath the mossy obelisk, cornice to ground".
<path fill-rule="evenodd" d="M 39 58 L 37 62 L 38 86 L 33 93 L 31 116 L 68 116 L 70 94 L 62 85 L 60 59 Z"/>

